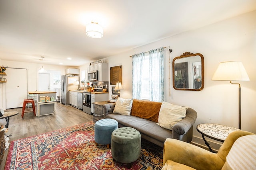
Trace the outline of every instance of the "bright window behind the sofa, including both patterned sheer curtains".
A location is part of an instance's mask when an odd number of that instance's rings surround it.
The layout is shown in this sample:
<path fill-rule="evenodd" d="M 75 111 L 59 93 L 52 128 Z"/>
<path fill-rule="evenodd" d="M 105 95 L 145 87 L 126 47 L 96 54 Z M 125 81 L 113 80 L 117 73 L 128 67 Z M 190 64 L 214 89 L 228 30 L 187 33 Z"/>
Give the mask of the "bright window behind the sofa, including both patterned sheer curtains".
<path fill-rule="evenodd" d="M 156 102 L 164 100 L 163 48 L 132 56 L 132 96 Z"/>

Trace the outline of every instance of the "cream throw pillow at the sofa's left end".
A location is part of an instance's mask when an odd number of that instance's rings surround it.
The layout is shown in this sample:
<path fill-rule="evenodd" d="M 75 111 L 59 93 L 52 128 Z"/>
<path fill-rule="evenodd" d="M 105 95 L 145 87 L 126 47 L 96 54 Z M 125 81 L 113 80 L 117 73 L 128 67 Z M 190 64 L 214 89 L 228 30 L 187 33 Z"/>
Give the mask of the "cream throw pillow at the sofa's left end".
<path fill-rule="evenodd" d="M 118 98 L 113 113 L 119 113 L 121 115 L 131 115 L 133 99 Z"/>

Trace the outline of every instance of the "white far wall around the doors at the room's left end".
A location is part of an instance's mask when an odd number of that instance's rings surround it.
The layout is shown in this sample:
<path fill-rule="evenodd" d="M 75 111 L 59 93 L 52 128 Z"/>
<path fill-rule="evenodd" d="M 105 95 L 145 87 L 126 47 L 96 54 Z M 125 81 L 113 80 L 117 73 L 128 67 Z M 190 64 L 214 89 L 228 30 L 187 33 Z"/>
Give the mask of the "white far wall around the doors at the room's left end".
<path fill-rule="evenodd" d="M 12 67 L 12 68 L 28 69 L 28 91 L 38 90 L 38 70 L 42 67 L 42 64 L 24 63 L 24 62 L 16 62 L 16 61 L 4 61 L 4 60 L 0 60 L 0 64 L 3 66 Z M 69 68 L 69 67 L 44 64 L 44 69 L 52 70 L 52 71 L 59 70 L 61 71 L 61 75 L 65 74 L 66 68 Z M 8 81 L 8 76 L 10 75 L 6 76 L 7 81 Z M 5 83 L 0 83 L 0 108 L 3 108 L 3 109 L 6 108 L 5 85 L 6 85 Z"/>

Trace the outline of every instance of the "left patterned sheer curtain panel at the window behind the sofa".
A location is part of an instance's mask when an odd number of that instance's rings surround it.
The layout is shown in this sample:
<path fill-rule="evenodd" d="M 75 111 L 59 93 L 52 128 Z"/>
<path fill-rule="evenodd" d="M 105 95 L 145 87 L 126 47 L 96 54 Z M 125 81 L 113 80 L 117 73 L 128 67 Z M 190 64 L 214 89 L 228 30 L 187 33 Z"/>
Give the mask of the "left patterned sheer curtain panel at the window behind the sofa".
<path fill-rule="evenodd" d="M 145 53 L 132 56 L 132 97 L 141 99 L 141 79 Z"/>

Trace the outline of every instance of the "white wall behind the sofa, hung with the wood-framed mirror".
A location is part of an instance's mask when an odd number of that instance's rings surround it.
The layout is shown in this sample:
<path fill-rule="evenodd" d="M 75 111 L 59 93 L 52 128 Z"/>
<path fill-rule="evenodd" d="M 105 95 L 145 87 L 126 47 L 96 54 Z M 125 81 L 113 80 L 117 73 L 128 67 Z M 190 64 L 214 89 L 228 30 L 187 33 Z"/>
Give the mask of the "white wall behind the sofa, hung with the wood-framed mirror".
<path fill-rule="evenodd" d="M 132 98 L 132 59 L 130 55 L 150 49 L 170 46 L 171 62 L 174 57 L 188 51 L 204 56 L 204 89 L 202 91 L 174 90 L 168 82 L 168 48 L 165 49 L 165 101 L 189 106 L 198 113 L 194 125 L 193 141 L 204 145 L 196 126 L 200 123 L 219 123 L 238 128 L 238 86 L 228 81 L 211 80 L 218 64 L 222 61 L 242 61 L 250 82 L 242 86 L 242 130 L 256 133 L 256 11 L 224 20 L 206 27 L 194 29 L 172 37 L 110 56 L 104 61 L 109 67 L 122 65 L 123 88 L 120 97 Z M 171 23 L 170 23 L 171 24 Z M 150 35 L 149 35 L 150 36 Z M 172 75 L 172 72 L 170 72 Z M 170 79 L 172 81 L 172 77 Z M 169 88 L 171 95 L 169 96 Z M 214 140 L 209 140 L 220 144 Z M 213 144 L 214 144 L 213 143 Z M 213 147 L 219 147 L 216 145 Z"/>

